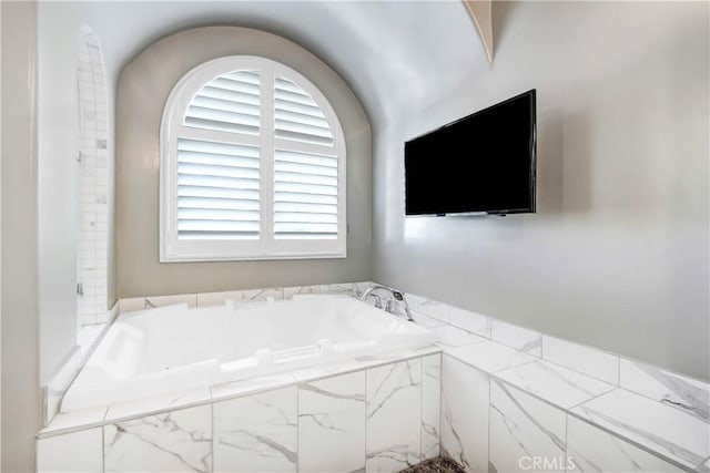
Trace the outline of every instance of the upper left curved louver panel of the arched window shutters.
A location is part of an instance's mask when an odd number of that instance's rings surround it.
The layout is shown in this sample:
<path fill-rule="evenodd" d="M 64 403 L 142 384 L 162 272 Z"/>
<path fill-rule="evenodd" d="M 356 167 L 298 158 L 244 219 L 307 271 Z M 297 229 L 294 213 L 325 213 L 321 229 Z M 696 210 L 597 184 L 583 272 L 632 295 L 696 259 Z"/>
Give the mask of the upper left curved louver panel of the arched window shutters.
<path fill-rule="evenodd" d="M 220 132 L 258 134 L 258 72 L 235 71 L 207 82 L 190 102 L 184 125 Z"/>

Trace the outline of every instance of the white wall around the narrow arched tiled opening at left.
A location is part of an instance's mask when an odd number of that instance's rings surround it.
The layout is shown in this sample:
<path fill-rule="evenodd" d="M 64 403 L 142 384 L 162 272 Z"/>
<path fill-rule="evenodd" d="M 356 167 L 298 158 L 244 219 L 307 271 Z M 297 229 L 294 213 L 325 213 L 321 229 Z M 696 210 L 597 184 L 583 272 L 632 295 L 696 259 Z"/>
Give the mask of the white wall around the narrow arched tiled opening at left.
<path fill-rule="evenodd" d="M 40 2 L 38 9 L 38 172 L 40 382 L 51 380 L 77 340 L 77 198 L 79 104 L 78 38 L 83 25 L 100 42 L 106 12 L 94 2 Z M 108 38 L 106 38 L 108 40 Z M 109 235 L 113 222 L 113 116 L 115 61 L 106 58 L 109 113 Z M 113 255 L 109 246 L 109 300 L 114 298 Z"/>

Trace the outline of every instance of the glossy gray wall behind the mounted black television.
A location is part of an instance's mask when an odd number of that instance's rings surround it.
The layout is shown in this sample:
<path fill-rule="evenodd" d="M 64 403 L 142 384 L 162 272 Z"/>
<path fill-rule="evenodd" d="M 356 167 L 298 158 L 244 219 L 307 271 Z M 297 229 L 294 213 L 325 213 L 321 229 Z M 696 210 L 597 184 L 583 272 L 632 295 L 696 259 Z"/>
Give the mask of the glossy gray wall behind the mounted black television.
<path fill-rule="evenodd" d="M 488 71 L 376 130 L 374 280 L 709 379 L 708 3 L 494 17 Z M 403 142 L 532 88 L 538 213 L 404 218 Z"/>

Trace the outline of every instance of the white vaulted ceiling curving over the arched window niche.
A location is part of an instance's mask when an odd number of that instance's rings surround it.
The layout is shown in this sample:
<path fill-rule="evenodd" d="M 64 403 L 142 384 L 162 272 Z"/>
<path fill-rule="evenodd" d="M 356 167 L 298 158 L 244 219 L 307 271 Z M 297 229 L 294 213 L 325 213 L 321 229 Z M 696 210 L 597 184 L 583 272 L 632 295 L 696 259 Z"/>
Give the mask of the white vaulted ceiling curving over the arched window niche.
<path fill-rule="evenodd" d="M 374 126 L 423 110 L 488 68 L 460 1 L 95 2 L 108 72 L 153 41 L 193 27 L 251 27 L 311 50 L 351 85 Z M 416 110 L 412 105 L 416 104 Z"/>

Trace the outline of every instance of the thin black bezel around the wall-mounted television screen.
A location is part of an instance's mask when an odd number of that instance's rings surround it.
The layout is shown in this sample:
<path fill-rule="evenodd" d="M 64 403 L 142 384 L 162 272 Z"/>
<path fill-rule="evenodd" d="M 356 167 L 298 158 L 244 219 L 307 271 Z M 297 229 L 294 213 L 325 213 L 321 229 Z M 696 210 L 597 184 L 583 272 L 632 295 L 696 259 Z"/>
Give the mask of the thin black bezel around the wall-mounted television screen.
<path fill-rule="evenodd" d="M 493 105 L 489 105 L 485 109 L 481 109 L 477 112 L 470 113 L 466 116 L 463 116 L 460 119 L 457 119 L 453 122 L 449 122 L 445 125 L 442 125 L 437 128 L 430 130 L 426 133 L 423 133 L 420 135 L 417 135 L 410 140 L 407 140 L 404 143 L 404 150 L 403 150 L 403 154 L 404 154 L 404 162 L 405 162 L 405 193 L 404 193 L 404 209 L 405 209 L 405 217 L 417 217 L 417 216 L 436 216 L 436 217 L 443 217 L 446 215 L 480 215 L 480 214 L 488 214 L 488 215 L 508 215 L 508 214 L 535 214 L 537 212 L 537 203 L 536 203 L 536 194 L 537 194 L 537 89 L 530 89 L 527 92 L 523 92 L 518 95 L 511 96 L 510 99 L 506 99 L 501 102 L 497 102 Z M 530 193 L 530 205 L 528 207 L 519 207 L 519 208 L 506 208 L 506 209 L 491 209 L 491 210 L 485 210 L 485 209 L 480 209 L 480 210 L 460 210 L 460 212 L 443 212 L 443 213 L 435 213 L 435 212 L 416 212 L 416 213 L 408 213 L 407 212 L 407 191 L 406 191 L 406 145 L 407 143 L 414 142 L 420 137 L 424 136 L 429 136 L 433 135 L 437 132 L 440 132 L 452 125 L 455 125 L 457 123 L 460 122 L 465 122 L 474 116 L 477 116 L 481 113 L 486 113 L 487 111 L 490 111 L 493 109 L 496 109 L 498 106 L 505 105 L 508 102 L 513 102 L 515 100 L 519 100 L 521 97 L 528 96 L 530 99 L 530 124 L 531 124 L 531 131 L 530 131 L 530 138 L 529 138 L 529 150 L 530 150 L 530 171 L 529 171 L 529 193 Z"/>

